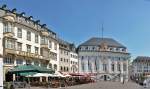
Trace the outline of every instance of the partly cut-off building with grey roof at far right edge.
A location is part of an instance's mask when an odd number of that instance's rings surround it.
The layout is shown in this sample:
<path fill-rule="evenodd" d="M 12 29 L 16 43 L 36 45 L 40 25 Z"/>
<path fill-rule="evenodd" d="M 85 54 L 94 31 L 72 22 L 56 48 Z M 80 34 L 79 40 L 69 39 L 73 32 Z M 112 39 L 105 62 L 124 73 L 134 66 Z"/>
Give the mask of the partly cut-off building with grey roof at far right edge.
<path fill-rule="evenodd" d="M 138 56 L 132 62 L 132 77 L 138 79 L 147 75 L 150 75 L 150 57 Z"/>

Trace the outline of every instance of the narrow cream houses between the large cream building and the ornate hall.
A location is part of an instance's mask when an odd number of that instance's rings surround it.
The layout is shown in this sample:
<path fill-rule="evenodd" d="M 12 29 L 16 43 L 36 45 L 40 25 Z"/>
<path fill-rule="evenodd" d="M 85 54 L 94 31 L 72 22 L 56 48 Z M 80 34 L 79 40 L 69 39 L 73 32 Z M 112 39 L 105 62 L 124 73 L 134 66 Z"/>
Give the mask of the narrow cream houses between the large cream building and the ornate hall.
<path fill-rule="evenodd" d="M 59 39 L 59 66 L 63 73 L 78 71 L 78 54 L 73 44 Z"/>

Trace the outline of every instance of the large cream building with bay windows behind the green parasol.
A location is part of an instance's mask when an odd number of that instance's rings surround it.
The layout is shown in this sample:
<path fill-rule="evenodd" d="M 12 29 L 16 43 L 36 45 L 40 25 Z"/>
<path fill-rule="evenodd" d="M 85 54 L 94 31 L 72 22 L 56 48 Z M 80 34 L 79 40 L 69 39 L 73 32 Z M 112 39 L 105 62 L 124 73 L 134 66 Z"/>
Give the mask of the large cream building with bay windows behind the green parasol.
<path fill-rule="evenodd" d="M 0 8 L 0 54 L 3 60 L 3 79 L 11 81 L 8 71 L 15 66 L 32 64 L 59 70 L 59 43 L 56 33 L 33 20 L 32 16 Z"/>

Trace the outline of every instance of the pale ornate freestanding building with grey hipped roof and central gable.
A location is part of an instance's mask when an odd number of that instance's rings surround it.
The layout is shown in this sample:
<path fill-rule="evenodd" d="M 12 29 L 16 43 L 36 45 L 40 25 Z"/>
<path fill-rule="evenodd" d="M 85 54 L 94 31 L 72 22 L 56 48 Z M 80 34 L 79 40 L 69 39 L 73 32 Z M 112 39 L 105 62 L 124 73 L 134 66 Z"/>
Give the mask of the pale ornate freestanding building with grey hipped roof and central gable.
<path fill-rule="evenodd" d="M 111 38 L 93 37 L 78 47 L 79 72 L 98 80 L 128 81 L 127 48 Z"/>

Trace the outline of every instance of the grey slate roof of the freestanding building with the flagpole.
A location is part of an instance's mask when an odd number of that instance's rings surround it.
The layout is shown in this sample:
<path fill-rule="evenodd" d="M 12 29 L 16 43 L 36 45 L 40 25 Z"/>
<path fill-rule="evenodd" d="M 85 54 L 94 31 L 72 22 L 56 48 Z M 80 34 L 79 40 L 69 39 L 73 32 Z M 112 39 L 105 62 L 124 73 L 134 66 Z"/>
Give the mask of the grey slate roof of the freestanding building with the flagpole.
<path fill-rule="evenodd" d="M 121 43 L 117 42 L 116 40 L 112 38 L 97 38 L 97 37 L 92 37 L 79 46 L 99 46 L 103 42 L 105 42 L 107 46 L 110 46 L 110 47 L 126 48 L 124 45 L 122 45 Z"/>

